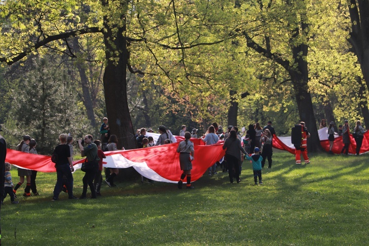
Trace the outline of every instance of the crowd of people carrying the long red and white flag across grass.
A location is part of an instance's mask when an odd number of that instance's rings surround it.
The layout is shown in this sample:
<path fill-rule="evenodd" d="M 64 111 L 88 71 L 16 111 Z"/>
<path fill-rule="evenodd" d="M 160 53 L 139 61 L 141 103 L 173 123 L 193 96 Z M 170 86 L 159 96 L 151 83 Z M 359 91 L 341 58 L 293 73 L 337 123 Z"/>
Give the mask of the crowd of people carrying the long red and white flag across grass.
<path fill-rule="evenodd" d="M 335 135 L 342 136 L 343 148 L 341 154 L 348 154 L 348 147 L 350 144 L 350 127 L 348 121 L 345 120 L 343 126 L 338 126 L 338 133 L 335 132 L 335 123 L 328 124 L 326 120 L 320 122 L 319 128 L 328 127 L 328 140 L 330 142 L 329 151 L 332 153 L 334 145 Z M 154 144 L 152 136 L 146 136 L 147 132 L 154 132 L 152 128 L 141 128 L 137 130 L 136 141 L 138 148 L 148 148 L 155 145 L 163 145 L 172 143 L 173 134 L 167 127 L 160 125 L 158 127 L 159 137 Z M 249 160 L 252 163 L 254 182 L 255 184 L 262 184 L 261 170 L 264 168 L 266 160 L 268 160 L 268 167 L 272 168 L 272 156 L 273 156 L 273 136 L 276 134 L 272 122 L 269 121 L 264 127 L 260 126 L 260 123 L 249 124 L 248 129 L 239 131 L 237 126 L 228 126 L 223 129 L 221 125 L 213 123 L 210 125 L 205 134 L 198 137 L 198 129 L 193 128 L 191 132 L 186 131 L 185 125 L 181 126 L 179 132 L 180 136 L 184 136 L 177 149 L 180 153 L 180 166 L 183 171 L 179 182 L 178 188 L 182 188 L 184 179 L 186 178 L 186 188 L 191 189 L 191 169 L 192 161 L 194 160 L 194 145 L 190 141 L 191 138 L 200 138 L 206 145 L 213 145 L 223 140 L 223 149 L 225 150 L 225 156 L 215 162 L 209 167 L 209 175 L 215 175 L 216 166 L 220 165 L 223 172 L 228 171 L 230 183 L 241 182 L 240 174 L 242 170 L 242 163 L 244 159 Z M 294 131 L 296 132 L 296 140 L 294 140 Z M 356 154 L 359 154 L 363 141 L 363 135 L 365 133 L 364 128 L 361 126 L 361 122 L 357 121 L 356 126 L 353 129 L 353 136 L 356 141 Z M 82 156 L 86 156 L 86 162 L 82 165 L 82 170 L 85 171 L 83 177 L 83 191 L 79 199 L 85 199 L 87 197 L 88 187 L 91 190 L 91 198 L 94 199 L 100 196 L 100 188 L 103 183 L 102 177 L 102 159 L 106 158 L 104 151 L 116 151 L 118 150 L 118 137 L 114 134 L 110 134 L 110 128 L 108 119 L 103 118 L 103 123 L 100 127 L 100 140 L 94 140 L 92 135 L 88 134 L 83 140 L 78 140 L 78 147 Z M 243 135 L 245 136 L 243 137 Z M 243 137 L 243 138 L 242 138 Z M 310 163 L 307 156 L 307 138 L 310 137 L 310 133 L 304 122 L 301 122 L 292 128 L 291 142 L 295 146 L 295 159 L 296 164 L 301 164 L 301 155 L 303 155 L 306 164 Z M 78 199 L 73 195 L 73 137 L 67 134 L 61 134 L 59 136 L 60 144 L 55 148 L 53 156 L 55 157 L 55 167 L 57 171 L 57 182 L 54 187 L 53 201 L 59 200 L 59 194 L 64 191 L 68 193 L 69 199 Z M 16 150 L 37 154 L 36 141 L 29 135 L 23 136 L 22 141 L 17 145 Z M 243 146 L 242 146 L 243 145 Z M 124 150 L 124 148 L 122 148 Z M 9 195 L 12 204 L 17 204 L 17 191 L 26 180 L 26 187 L 24 189 L 23 196 L 37 196 L 36 177 L 37 171 L 18 168 L 19 182 L 14 185 L 10 174 L 11 164 L 5 163 L 5 176 L 4 176 L 4 194 L 1 198 L 1 202 Z M 105 183 L 110 186 L 116 186 L 114 184 L 114 178 L 119 174 L 118 168 L 105 168 Z M 142 182 L 147 180 L 148 182 L 154 182 L 150 179 L 142 177 Z M 257 182 L 259 180 L 259 183 Z M 32 192 L 32 194 L 31 194 Z"/>

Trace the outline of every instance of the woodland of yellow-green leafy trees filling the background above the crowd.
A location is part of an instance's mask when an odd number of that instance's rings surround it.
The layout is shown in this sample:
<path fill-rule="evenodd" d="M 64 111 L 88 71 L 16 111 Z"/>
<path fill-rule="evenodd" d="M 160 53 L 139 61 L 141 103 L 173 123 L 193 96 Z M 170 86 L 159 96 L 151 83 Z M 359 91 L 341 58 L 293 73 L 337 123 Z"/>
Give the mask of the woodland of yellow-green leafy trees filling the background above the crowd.
<path fill-rule="evenodd" d="M 271 120 L 369 123 L 368 0 L 2 0 L 0 124 L 51 154 L 60 133 L 119 147 L 141 127 L 199 134 Z"/>

